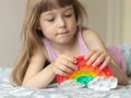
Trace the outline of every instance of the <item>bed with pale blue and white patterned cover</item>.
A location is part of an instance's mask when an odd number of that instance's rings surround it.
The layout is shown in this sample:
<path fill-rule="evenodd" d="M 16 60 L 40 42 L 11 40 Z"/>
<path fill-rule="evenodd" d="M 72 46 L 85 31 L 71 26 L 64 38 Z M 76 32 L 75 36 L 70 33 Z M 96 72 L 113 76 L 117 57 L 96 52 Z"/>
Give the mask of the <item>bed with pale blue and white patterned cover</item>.
<path fill-rule="evenodd" d="M 128 86 L 120 86 L 107 91 L 88 88 L 60 89 L 57 84 L 45 89 L 12 87 L 9 82 L 11 68 L 0 68 L 0 98 L 131 98 L 131 78 Z"/>

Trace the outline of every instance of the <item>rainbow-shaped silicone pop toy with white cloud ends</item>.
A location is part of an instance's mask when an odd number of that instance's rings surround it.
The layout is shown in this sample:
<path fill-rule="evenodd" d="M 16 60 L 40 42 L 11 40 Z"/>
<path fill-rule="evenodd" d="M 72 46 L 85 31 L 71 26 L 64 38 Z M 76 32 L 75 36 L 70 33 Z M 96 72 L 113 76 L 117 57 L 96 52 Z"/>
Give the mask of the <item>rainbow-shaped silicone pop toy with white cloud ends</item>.
<path fill-rule="evenodd" d="M 104 70 L 99 70 L 99 65 L 86 65 L 84 56 L 76 58 L 79 69 L 68 76 L 57 75 L 57 83 L 61 88 L 78 88 L 87 86 L 96 90 L 109 90 L 117 87 L 118 79 L 107 65 Z"/>

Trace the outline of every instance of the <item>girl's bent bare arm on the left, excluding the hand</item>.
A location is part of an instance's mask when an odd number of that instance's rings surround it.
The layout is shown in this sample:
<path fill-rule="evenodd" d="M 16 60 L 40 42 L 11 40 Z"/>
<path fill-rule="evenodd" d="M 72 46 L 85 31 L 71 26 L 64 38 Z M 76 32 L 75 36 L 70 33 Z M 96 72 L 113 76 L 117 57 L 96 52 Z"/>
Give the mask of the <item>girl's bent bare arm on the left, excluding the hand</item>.
<path fill-rule="evenodd" d="M 44 88 L 52 82 L 56 77 L 56 74 L 51 71 L 52 65 L 48 65 L 44 69 L 45 62 L 46 58 L 43 50 L 40 48 L 36 49 L 24 76 L 22 86 Z"/>

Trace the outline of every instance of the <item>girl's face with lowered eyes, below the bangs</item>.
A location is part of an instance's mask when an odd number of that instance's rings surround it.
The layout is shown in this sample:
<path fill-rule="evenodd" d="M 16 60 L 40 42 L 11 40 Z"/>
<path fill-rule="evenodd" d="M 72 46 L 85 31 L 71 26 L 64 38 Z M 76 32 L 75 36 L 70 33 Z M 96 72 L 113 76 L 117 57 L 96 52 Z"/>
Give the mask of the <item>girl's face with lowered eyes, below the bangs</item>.
<path fill-rule="evenodd" d="M 38 28 L 52 42 L 68 44 L 76 32 L 73 7 L 57 8 L 41 13 Z"/>

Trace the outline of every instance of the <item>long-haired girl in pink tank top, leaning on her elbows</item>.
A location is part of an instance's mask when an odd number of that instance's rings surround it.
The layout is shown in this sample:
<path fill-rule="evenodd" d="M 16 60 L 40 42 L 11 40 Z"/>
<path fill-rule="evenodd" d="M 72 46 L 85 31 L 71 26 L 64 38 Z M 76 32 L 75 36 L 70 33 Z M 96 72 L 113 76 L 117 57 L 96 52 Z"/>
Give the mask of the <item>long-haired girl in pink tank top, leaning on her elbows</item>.
<path fill-rule="evenodd" d="M 85 56 L 87 64 L 100 70 L 109 65 L 119 84 L 126 74 L 107 53 L 100 38 L 80 23 L 86 16 L 78 0 L 28 0 L 23 26 L 23 48 L 12 72 L 13 86 L 47 87 L 56 74 L 76 70 L 73 57 Z M 48 63 L 49 62 L 49 63 Z"/>

